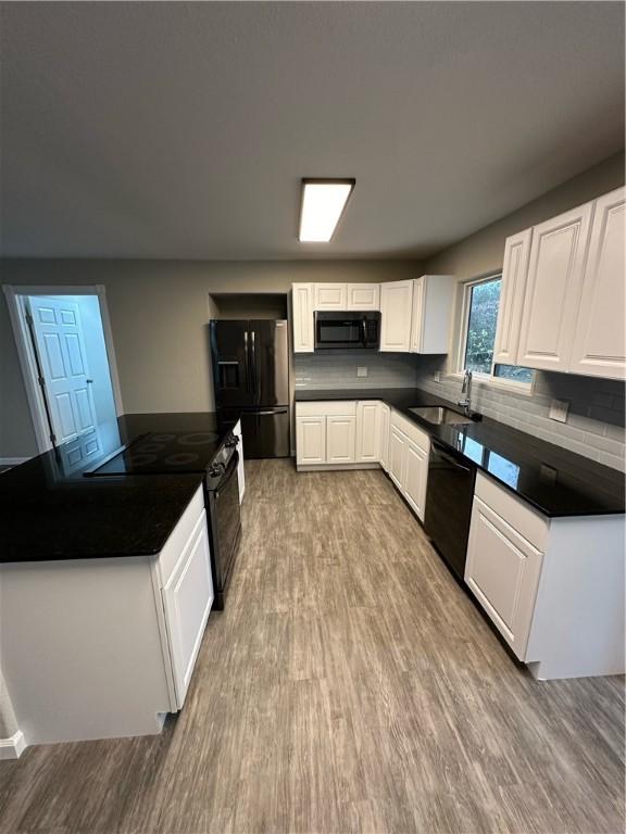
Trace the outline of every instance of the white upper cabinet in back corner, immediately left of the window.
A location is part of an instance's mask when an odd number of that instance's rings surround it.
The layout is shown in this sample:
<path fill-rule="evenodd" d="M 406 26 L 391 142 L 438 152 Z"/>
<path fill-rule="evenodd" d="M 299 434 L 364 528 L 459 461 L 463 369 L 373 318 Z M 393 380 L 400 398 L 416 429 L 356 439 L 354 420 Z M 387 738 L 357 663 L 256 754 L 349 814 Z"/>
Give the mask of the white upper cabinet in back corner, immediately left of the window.
<path fill-rule="evenodd" d="M 448 353 L 455 286 L 452 275 L 414 280 L 411 353 Z"/>

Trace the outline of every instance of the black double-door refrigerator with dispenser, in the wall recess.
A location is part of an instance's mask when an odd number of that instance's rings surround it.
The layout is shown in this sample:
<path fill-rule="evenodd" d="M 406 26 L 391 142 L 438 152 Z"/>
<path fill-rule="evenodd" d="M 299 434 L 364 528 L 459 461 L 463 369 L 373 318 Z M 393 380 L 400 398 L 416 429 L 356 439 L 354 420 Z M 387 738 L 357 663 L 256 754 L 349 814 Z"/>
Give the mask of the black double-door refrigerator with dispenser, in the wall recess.
<path fill-rule="evenodd" d="M 288 457 L 287 321 L 212 319 L 209 327 L 220 416 L 241 415 L 246 457 Z"/>

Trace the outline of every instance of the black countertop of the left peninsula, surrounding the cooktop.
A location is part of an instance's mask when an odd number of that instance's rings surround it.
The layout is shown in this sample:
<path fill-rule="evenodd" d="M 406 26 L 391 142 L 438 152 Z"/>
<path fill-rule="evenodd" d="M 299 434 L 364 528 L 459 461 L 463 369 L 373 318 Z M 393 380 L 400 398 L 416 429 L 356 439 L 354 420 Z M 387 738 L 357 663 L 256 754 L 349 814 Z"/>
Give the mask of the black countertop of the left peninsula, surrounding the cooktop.
<path fill-rule="evenodd" d="M 210 412 L 125 415 L 102 457 L 148 431 L 229 427 Z M 202 482 L 201 472 L 110 478 L 84 472 L 67 465 L 61 447 L 0 475 L 0 563 L 156 554 Z"/>

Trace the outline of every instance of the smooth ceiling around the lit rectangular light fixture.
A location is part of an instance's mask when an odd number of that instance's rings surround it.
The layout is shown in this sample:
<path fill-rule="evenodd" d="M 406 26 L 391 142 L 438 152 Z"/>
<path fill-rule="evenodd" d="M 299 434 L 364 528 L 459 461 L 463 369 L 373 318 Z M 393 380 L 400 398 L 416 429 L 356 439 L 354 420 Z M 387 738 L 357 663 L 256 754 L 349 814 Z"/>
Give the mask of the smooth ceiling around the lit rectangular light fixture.
<path fill-rule="evenodd" d="M 1 13 L 5 255 L 422 257 L 623 146 L 618 2 Z M 328 245 L 303 176 L 356 177 Z"/>

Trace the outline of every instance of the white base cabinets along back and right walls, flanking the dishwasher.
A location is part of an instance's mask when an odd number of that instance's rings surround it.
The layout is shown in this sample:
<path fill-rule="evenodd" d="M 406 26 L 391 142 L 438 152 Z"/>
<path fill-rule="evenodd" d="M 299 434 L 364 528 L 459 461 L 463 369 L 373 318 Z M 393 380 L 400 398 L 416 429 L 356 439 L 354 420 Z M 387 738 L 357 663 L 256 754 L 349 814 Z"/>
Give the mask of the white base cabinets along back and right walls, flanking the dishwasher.
<path fill-rule="evenodd" d="M 298 471 L 380 466 L 424 521 L 429 435 L 379 401 L 296 403 Z M 476 475 L 460 578 L 538 680 L 624 674 L 626 516 L 548 518 Z"/>

